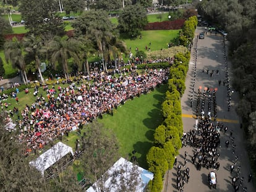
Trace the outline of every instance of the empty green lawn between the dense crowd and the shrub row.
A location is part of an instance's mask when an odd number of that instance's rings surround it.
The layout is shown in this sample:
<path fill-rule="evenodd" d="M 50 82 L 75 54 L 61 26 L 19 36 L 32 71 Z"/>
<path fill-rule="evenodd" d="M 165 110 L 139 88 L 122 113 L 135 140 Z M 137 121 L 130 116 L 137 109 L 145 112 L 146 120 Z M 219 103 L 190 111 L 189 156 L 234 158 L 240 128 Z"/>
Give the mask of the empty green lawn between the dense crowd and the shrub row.
<path fill-rule="evenodd" d="M 150 94 L 127 101 L 114 111 L 113 116 L 105 114 L 103 119 L 98 119 L 116 133 L 121 156 L 130 157 L 133 150 L 137 151 L 138 162 L 145 169 L 148 168 L 146 156 L 153 145 L 153 133 L 163 122 L 161 103 L 167 88 L 163 85 Z"/>

